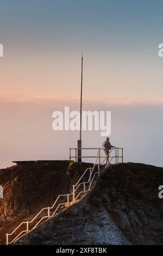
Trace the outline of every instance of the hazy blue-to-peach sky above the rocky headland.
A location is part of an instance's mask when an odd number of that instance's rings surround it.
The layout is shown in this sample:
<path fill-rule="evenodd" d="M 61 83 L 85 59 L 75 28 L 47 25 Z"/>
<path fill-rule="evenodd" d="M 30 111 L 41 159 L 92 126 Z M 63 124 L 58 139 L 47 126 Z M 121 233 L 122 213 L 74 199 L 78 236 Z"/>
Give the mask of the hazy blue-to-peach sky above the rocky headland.
<path fill-rule="evenodd" d="M 0 168 L 68 159 L 78 132 L 53 131 L 52 113 L 111 111 L 112 144 L 126 161 L 163 166 L 162 1 L 0 0 Z M 83 132 L 99 147 L 99 131 Z"/>

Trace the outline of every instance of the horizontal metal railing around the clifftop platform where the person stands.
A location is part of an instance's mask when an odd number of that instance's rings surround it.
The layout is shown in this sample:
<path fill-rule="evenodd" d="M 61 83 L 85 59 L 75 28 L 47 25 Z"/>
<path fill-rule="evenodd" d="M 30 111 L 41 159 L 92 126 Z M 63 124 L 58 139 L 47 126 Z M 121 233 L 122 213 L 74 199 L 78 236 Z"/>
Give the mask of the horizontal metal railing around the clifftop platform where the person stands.
<path fill-rule="evenodd" d="M 70 161 L 75 159 L 75 162 L 77 162 L 77 159 L 78 158 L 95 158 L 96 156 L 78 156 L 77 153 L 78 153 L 78 149 L 81 149 L 81 150 L 98 150 L 99 149 L 99 155 L 98 155 L 98 158 L 99 158 L 99 163 L 101 163 L 101 160 L 102 159 L 106 159 L 106 156 L 102 156 L 101 154 L 101 151 L 104 151 L 103 148 L 70 148 L 69 149 L 69 159 Z M 74 150 L 74 155 L 72 155 L 72 151 Z M 115 150 L 115 156 L 112 156 L 112 152 L 113 150 Z M 115 162 L 116 163 L 119 163 L 119 160 L 121 159 L 121 162 L 123 163 L 123 148 L 112 148 L 110 150 L 110 153 L 109 153 L 109 159 L 112 159 L 112 158 L 115 158 Z M 104 161 L 103 161 L 104 162 Z"/>

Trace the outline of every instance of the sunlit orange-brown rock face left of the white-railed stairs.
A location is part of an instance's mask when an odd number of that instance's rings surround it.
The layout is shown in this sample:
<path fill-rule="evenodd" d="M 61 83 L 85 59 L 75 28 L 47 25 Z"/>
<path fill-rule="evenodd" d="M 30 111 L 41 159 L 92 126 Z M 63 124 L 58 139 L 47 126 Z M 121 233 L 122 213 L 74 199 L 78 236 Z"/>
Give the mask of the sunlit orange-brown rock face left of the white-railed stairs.
<path fill-rule="evenodd" d="M 72 185 L 90 163 L 70 161 L 24 161 L 0 170 L 4 198 L 0 199 L 0 244 L 6 242 L 22 221 L 29 221 L 43 207 L 51 206 L 59 194 L 72 191 Z"/>

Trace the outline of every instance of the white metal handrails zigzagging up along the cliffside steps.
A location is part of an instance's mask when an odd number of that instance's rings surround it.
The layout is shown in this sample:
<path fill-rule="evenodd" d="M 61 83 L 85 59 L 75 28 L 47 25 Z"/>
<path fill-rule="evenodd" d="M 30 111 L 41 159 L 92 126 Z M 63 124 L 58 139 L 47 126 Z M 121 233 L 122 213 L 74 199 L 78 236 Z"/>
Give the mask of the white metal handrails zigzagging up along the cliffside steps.
<path fill-rule="evenodd" d="M 86 149 L 86 148 L 85 148 L 85 149 Z M 92 149 L 92 148 L 91 148 L 91 149 Z M 93 149 L 94 149 L 94 148 L 93 148 Z M 96 149 L 96 148 L 95 148 L 95 149 Z M 115 157 L 116 157 L 116 161 L 117 161 L 117 157 L 122 157 L 122 159 L 123 159 L 123 155 L 122 155 L 122 156 L 119 156 L 119 155 L 117 156 L 117 149 L 118 149 L 118 148 L 113 148 L 113 149 L 111 149 L 111 150 L 110 150 L 110 153 L 111 153 L 112 150 L 114 150 L 114 149 L 116 149 L 116 156 L 112 156 L 111 159 L 110 159 L 110 161 L 109 161 L 109 163 L 110 163 L 111 160 L 114 159 Z M 119 148 L 119 149 L 120 149 L 120 148 Z M 7 234 L 7 245 L 9 245 L 9 244 L 11 244 L 11 243 L 15 243 L 15 242 L 16 242 L 18 239 L 20 239 L 22 236 L 24 236 L 24 235 L 26 235 L 27 233 L 29 233 L 30 231 L 32 231 L 34 228 L 37 227 L 37 225 L 39 225 L 40 223 L 42 223 L 42 220 L 44 220 L 45 218 L 51 218 L 51 217 L 55 216 L 55 215 L 57 214 L 57 211 L 58 211 L 58 209 L 60 208 L 61 205 L 65 205 L 65 207 L 67 208 L 70 204 L 76 202 L 76 200 L 79 198 L 80 194 L 82 194 L 82 193 L 85 194 L 86 192 L 88 192 L 88 191 L 91 190 L 91 187 L 92 187 L 92 184 L 93 184 L 93 180 L 95 179 L 96 174 L 98 174 L 98 176 L 99 176 L 99 174 L 102 173 L 103 170 L 104 170 L 106 167 L 108 167 L 108 165 L 106 165 L 106 166 L 102 169 L 102 171 L 100 172 L 100 168 L 99 168 L 99 166 L 100 166 L 100 164 L 101 164 L 101 163 L 100 163 L 100 157 L 101 157 L 101 155 L 100 155 L 100 150 L 101 150 L 101 148 L 98 148 L 95 164 L 93 165 L 92 168 L 89 167 L 89 168 L 87 168 L 87 169 L 85 170 L 85 172 L 84 172 L 84 173 L 82 174 L 82 176 L 79 178 L 79 180 L 77 181 L 77 183 L 73 185 L 73 191 L 72 191 L 70 194 L 60 194 L 60 195 L 57 197 L 57 199 L 55 200 L 54 204 L 53 204 L 51 207 L 42 208 L 42 209 L 36 214 L 36 216 L 35 216 L 32 220 L 26 221 L 26 222 L 23 221 L 20 225 L 18 225 L 17 228 L 14 229 L 14 231 L 12 231 L 12 233 Z M 121 150 L 122 150 L 122 153 L 123 153 L 123 149 L 122 149 L 122 148 L 121 148 Z M 106 160 L 107 157 L 110 156 L 110 153 L 109 153 L 107 156 L 105 156 L 104 161 Z M 95 166 L 97 165 L 97 161 L 98 161 L 98 172 L 95 172 L 95 173 L 93 174 L 94 169 L 95 169 Z M 104 161 L 103 161 L 103 162 L 104 162 Z M 103 163 L 103 162 L 102 162 L 102 163 Z M 87 170 L 90 171 L 89 179 L 88 179 L 87 181 L 80 182 L 80 181 L 82 180 L 82 178 L 84 177 L 84 175 L 87 173 Z M 92 176 L 92 174 L 93 174 L 93 176 Z M 80 183 L 79 183 L 79 182 L 80 182 Z M 80 192 L 77 194 L 77 196 L 75 197 L 76 191 L 78 190 L 79 186 L 82 185 L 82 184 L 83 184 L 83 190 L 80 191 Z M 86 184 L 89 184 L 89 187 L 88 187 L 87 189 L 86 189 Z M 70 200 L 70 196 L 72 196 L 72 200 Z M 58 206 L 55 208 L 53 214 L 51 215 L 51 214 L 50 214 L 50 210 L 52 210 L 52 209 L 54 208 L 55 204 L 57 204 L 59 198 L 61 198 L 61 197 L 66 197 L 67 200 L 65 201 L 65 203 L 59 203 Z M 80 198 L 80 199 L 81 199 L 81 198 Z M 66 206 L 66 205 L 67 205 L 67 206 Z M 39 218 L 39 220 L 37 221 L 37 223 L 34 224 L 34 227 L 29 230 L 29 223 L 33 223 L 33 222 L 36 220 L 36 218 L 39 217 L 39 215 L 40 215 L 44 210 L 47 210 L 47 211 L 48 211 L 48 214 L 47 214 L 47 215 L 44 215 L 44 216 L 40 216 L 41 218 Z M 26 226 L 27 226 L 26 230 L 20 230 L 21 232 L 20 232 L 18 235 L 16 235 L 16 236 L 14 237 L 14 239 L 12 239 L 11 242 L 9 242 L 9 236 L 13 235 L 23 224 L 26 224 Z M 23 233 L 26 233 L 26 234 L 23 234 Z M 22 235 L 22 234 L 23 234 L 23 235 Z"/>

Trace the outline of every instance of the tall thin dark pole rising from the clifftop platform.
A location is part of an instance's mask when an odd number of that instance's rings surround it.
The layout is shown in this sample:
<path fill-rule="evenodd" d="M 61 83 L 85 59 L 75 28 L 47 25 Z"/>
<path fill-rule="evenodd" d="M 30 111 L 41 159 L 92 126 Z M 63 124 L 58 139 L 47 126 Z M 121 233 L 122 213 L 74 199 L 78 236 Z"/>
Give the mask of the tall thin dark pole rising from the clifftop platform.
<path fill-rule="evenodd" d="M 83 93 L 83 52 L 82 52 L 82 74 L 80 90 L 80 137 L 78 140 L 78 162 L 82 162 L 82 93 Z"/>

